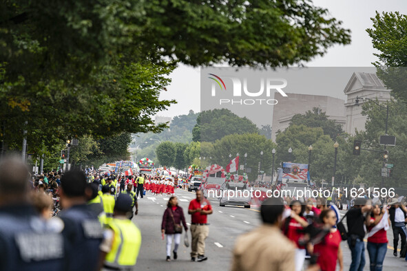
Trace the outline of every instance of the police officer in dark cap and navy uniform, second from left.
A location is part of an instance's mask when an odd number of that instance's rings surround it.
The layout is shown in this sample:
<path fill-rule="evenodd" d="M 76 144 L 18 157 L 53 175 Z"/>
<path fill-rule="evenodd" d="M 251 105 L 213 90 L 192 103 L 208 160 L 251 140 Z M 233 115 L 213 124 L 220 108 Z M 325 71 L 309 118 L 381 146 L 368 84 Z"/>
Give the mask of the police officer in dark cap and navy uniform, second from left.
<path fill-rule="evenodd" d="M 61 177 L 61 219 L 68 241 L 65 270 L 96 270 L 103 229 L 97 215 L 86 204 L 86 176 L 82 171 L 67 171 Z"/>

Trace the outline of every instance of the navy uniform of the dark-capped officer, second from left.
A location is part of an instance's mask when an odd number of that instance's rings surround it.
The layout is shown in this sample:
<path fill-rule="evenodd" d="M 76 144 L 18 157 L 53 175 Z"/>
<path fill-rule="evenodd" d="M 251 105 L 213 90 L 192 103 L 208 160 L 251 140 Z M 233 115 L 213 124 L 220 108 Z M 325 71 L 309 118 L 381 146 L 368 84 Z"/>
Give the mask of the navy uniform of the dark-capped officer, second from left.
<path fill-rule="evenodd" d="M 86 204 L 61 211 L 67 242 L 65 270 L 96 270 L 103 229 L 97 215 Z"/>

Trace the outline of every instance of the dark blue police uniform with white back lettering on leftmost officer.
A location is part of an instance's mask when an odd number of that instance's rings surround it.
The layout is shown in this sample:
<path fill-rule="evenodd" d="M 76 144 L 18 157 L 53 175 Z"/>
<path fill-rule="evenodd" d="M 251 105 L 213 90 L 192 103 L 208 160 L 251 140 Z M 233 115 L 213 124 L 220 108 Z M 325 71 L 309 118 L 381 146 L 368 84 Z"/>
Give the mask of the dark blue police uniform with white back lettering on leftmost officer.
<path fill-rule="evenodd" d="M 0 270 L 63 270 L 64 239 L 28 204 L 0 208 Z"/>

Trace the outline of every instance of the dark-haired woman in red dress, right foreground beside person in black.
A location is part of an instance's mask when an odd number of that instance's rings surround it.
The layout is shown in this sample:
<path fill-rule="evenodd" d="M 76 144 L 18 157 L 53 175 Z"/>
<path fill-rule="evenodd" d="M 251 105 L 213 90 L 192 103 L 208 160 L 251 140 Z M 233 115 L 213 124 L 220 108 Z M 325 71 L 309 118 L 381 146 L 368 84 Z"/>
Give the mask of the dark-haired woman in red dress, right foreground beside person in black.
<path fill-rule="evenodd" d="M 342 237 L 339 230 L 333 228 L 336 225 L 335 212 L 331 209 L 322 210 L 320 221 L 324 224 L 325 228 L 330 228 L 331 230 L 313 248 L 313 253 L 318 255 L 317 264 L 320 265 L 322 271 L 335 271 L 336 263 L 339 261 L 340 271 L 342 271 L 344 270 L 344 259 L 340 246 Z"/>

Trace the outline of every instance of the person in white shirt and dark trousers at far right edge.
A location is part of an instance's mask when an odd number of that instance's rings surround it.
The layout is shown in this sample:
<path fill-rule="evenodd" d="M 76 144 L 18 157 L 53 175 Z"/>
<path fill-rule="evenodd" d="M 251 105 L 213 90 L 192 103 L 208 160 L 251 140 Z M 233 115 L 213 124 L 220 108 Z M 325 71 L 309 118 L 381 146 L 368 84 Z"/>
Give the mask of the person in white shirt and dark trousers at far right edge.
<path fill-rule="evenodd" d="M 393 255 L 397 257 L 397 245 L 399 244 L 399 235 L 401 241 L 401 250 L 406 246 L 406 223 L 407 223 L 407 209 L 403 204 L 400 204 L 398 199 L 393 199 L 388 213 L 390 215 L 391 228 L 393 229 L 393 246 L 395 250 Z M 400 257 L 402 255 L 400 254 Z"/>

